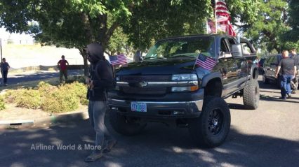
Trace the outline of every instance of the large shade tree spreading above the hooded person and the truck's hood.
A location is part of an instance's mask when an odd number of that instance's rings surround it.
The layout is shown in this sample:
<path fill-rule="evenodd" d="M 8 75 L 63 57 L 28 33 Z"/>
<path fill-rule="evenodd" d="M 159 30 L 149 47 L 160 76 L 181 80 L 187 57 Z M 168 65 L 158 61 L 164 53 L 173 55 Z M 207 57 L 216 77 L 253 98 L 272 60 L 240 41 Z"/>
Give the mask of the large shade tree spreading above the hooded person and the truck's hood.
<path fill-rule="evenodd" d="M 246 8 L 251 8 L 254 3 L 247 3 L 246 0 L 229 2 L 232 9 L 236 10 L 232 12 L 233 17 L 252 15 L 253 10 Z M 204 32 L 206 18 L 212 14 L 211 0 L 0 2 L 1 26 L 10 32 L 32 34 L 43 45 L 77 48 L 84 58 L 85 74 L 88 68 L 84 47 L 88 43 L 101 42 L 105 49 L 113 49 L 112 46 L 108 47 L 109 40 L 118 27 L 124 30 L 128 42 L 135 48 L 146 49 L 158 38 Z"/>

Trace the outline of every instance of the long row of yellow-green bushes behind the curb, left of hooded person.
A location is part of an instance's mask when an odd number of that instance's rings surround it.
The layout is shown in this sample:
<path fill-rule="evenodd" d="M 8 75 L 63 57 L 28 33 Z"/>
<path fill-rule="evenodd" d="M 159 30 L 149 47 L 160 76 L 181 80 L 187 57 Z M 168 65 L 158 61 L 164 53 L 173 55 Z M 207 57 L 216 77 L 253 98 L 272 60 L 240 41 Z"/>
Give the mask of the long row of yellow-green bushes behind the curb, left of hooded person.
<path fill-rule="evenodd" d="M 87 105 L 87 88 L 77 81 L 53 86 L 39 82 L 36 89 L 17 89 L 6 92 L 9 103 L 22 108 L 41 108 L 48 112 L 68 112 L 79 108 L 79 103 Z"/>

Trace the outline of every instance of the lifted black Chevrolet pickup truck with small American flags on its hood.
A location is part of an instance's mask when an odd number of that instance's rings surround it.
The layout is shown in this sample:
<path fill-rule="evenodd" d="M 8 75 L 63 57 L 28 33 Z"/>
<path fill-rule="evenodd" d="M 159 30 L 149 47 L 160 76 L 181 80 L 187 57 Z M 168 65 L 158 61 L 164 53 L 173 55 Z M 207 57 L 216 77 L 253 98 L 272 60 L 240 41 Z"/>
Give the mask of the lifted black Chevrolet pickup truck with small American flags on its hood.
<path fill-rule="evenodd" d="M 230 108 L 223 99 L 243 96 L 258 108 L 255 49 L 245 39 L 226 35 L 165 38 L 140 62 L 116 71 L 109 92 L 112 128 L 132 136 L 148 122 L 187 127 L 200 145 L 221 145 L 230 131 Z"/>

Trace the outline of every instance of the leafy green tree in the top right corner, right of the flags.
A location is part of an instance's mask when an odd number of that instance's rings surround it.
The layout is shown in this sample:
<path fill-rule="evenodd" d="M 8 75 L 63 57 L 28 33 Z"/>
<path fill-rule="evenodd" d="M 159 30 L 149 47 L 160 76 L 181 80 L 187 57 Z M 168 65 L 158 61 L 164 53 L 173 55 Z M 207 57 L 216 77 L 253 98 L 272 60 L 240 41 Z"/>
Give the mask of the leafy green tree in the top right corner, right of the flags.
<path fill-rule="evenodd" d="M 284 37 L 291 27 L 288 26 L 288 1 L 260 0 L 259 11 L 255 22 L 241 26 L 246 37 L 258 48 L 272 52 L 288 50 L 298 45 L 286 41 Z"/>

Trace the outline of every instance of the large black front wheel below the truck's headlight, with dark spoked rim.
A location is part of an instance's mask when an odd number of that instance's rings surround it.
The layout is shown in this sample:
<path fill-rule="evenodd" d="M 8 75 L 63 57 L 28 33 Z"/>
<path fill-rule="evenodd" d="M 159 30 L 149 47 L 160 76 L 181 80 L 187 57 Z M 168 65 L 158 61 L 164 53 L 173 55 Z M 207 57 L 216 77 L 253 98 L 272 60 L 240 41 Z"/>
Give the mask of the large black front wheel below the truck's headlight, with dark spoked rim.
<path fill-rule="evenodd" d="M 190 119 L 190 135 L 204 147 L 221 145 L 230 131 L 230 108 L 220 97 L 208 96 L 200 117 Z"/>

